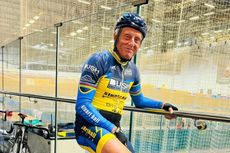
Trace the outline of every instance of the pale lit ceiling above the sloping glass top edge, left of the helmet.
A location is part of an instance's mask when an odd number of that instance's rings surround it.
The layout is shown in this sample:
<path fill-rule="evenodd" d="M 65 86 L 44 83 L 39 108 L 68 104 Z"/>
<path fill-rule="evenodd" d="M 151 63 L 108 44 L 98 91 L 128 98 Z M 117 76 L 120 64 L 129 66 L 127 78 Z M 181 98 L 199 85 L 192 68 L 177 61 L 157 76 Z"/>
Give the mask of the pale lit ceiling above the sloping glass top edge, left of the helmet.
<path fill-rule="evenodd" d="M 0 0 L 0 45 L 56 23 L 93 14 L 130 0 Z"/>

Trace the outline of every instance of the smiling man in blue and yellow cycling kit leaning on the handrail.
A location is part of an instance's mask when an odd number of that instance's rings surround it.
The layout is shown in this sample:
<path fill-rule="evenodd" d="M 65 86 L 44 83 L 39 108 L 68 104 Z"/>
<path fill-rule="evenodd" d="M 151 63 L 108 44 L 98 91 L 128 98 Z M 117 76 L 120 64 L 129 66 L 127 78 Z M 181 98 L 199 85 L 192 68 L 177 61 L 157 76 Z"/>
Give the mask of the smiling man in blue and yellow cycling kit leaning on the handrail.
<path fill-rule="evenodd" d="M 139 72 L 131 59 L 146 33 L 146 23 L 139 15 L 124 13 L 115 26 L 113 50 L 93 54 L 82 68 L 75 133 L 78 144 L 89 152 L 134 152 L 120 128 L 129 95 L 139 108 L 162 108 L 171 113 L 177 110 L 172 104 L 144 97 L 141 92 Z"/>

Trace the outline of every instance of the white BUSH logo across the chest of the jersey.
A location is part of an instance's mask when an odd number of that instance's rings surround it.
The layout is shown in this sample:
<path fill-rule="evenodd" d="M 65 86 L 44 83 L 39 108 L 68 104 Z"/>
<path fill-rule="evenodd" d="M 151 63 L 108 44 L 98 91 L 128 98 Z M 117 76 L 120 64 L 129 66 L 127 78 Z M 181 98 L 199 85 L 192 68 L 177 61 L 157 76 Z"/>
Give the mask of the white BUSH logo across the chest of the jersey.
<path fill-rule="evenodd" d="M 115 79 L 110 79 L 108 88 L 115 89 L 115 90 L 122 90 L 123 92 L 129 92 L 129 84 Z"/>

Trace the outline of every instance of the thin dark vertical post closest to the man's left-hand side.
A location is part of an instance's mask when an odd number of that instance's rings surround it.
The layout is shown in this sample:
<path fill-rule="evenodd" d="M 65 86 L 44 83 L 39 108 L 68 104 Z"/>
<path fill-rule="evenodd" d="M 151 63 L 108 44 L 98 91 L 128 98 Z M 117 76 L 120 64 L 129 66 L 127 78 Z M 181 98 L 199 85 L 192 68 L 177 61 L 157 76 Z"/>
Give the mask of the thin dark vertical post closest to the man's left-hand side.
<path fill-rule="evenodd" d="M 59 53 L 59 41 L 60 41 L 60 33 L 59 28 L 62 26 L 62 23 L 57 23 L 54 25 L 56 27 L 56 63 L 55 63 L 55 98 L 58 97 L 58 53 Z M 57 119 L 58 119 L 58 101 L 55 100 L 55 141 L 54 141 L 54 153 L 57 152 Z"/>

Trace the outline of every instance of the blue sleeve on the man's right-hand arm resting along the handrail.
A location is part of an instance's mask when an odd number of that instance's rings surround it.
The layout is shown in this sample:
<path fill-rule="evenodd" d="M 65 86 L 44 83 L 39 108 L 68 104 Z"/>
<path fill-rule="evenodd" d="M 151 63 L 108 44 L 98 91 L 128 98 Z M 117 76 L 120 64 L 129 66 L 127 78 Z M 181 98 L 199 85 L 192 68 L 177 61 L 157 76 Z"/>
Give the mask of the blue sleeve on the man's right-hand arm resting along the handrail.
<path fill-rule="evenodd" d="M 134 74 L 136 74 L 136 78 L 132 87 L 130 88 L 130 96 L 135 106 L 139 108 L 162 108 L 162 101 L 150 99 L 143 95 L 141 91 L 140 73 L 137 68 L 135 69 Z"/>

